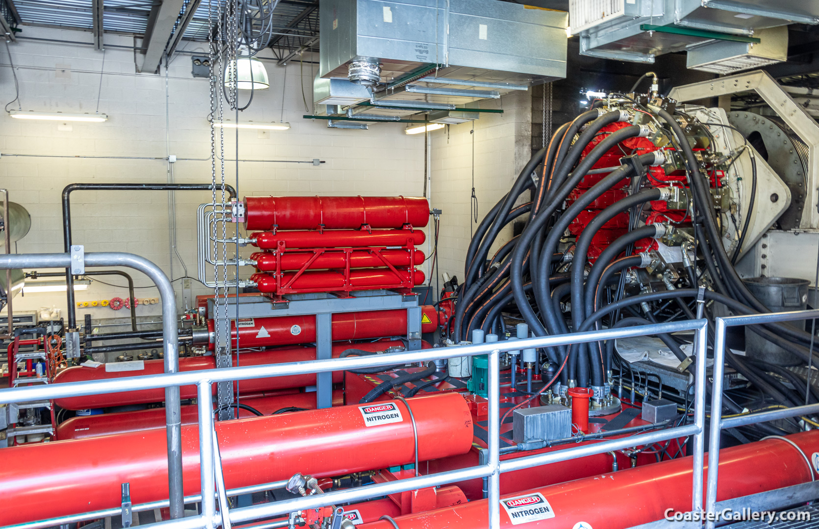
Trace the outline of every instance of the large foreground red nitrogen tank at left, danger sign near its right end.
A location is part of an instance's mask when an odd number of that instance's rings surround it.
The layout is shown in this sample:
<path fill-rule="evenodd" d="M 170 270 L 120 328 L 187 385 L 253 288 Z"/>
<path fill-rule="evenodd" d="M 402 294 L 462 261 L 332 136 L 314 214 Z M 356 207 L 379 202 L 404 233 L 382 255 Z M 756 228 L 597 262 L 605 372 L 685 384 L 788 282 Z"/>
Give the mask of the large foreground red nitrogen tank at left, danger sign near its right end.
<path fill-rule="evenodd" d="M 445 393 L 415 397 L 409 404 L 419 460 L 463 454 L 472 446 L 472 415 L 464 397 Z M 399 416 L 396 422 L 378 419 L 385 407 Z M 185 495 L 199 492 L 197 430 L 182 427 Z M 415 457 L 413 421 L 400 401 L 223 421 L 216 423 L 216 433 L 229 489 L 296 472 L 331 477 L 387 468 Z M 32 464 L 36 461 L 43 464 Z M 0 466 L 0 520 L 15 524 L 119 507 L 124 482 L 130 483 L 134 504 L 168 497 L 165 431 L 7 448 Z"/>

